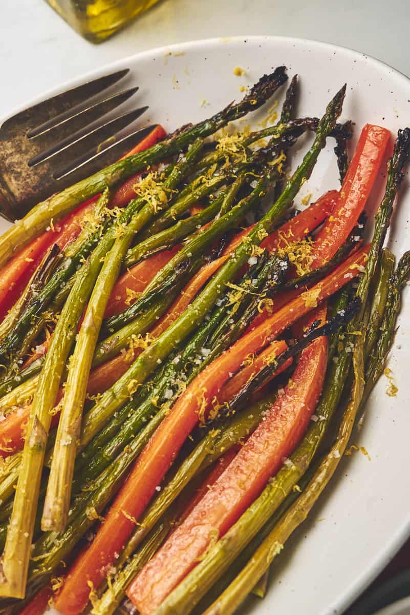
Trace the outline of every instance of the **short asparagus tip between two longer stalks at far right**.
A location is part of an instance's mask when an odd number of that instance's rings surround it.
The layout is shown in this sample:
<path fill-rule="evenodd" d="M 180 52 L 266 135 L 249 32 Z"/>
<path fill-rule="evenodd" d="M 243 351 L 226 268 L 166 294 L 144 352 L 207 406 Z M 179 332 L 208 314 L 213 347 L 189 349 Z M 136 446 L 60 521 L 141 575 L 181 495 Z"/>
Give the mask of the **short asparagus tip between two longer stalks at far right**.
<path fill-rule="evenodd" d="M 365 341 L 365 359 L 367 360 L 371 353 L 374 344 L 380 335 L 380 326 L 382 317 L 387 304 L 387 296 L 389 293 L 389 280 L 393 275 L 395 267 L 395 256 L 390 252 L 389 248 L 384 248 L 380 260 L 380 272 L 377 277 L 376 288 L 374 289 L 371 311 L 369 314 L 369 322 L 366 331 Z"/>

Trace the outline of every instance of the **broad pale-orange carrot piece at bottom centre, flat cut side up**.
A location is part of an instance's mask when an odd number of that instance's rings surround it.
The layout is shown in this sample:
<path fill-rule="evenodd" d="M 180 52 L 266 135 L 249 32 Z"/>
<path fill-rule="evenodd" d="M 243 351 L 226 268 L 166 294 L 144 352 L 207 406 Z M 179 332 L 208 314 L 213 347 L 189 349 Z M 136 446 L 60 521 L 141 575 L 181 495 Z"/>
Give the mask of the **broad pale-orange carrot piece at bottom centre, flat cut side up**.
<path fill-rule="evenodd" d="M 325 320 L 326 309 L 314 318 Z M 141 615 L 150 615 L 198 563 L 206 549 L 238 520 L 257 498 L 282 460 L 303 436 L 322 391 L 327 338 L 304 349 L 284 394 L 277 398 L 236 457 L 145 565 L 127 590 Z"/>

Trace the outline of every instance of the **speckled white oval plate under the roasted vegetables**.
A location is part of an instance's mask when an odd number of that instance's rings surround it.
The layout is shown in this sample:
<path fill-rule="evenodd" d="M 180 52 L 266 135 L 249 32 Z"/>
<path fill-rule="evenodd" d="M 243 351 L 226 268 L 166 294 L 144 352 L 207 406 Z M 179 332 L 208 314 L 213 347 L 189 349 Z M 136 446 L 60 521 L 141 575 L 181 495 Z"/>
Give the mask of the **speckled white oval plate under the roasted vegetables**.
<path fill-rule="evenodd" d="M 242 85 L 252 84 L 280 64 L 288 67 L 290 75 L 300 76 L 300 116 L 322 114 L 331 95 L 346 81 L 342 118 L 355 121 L 356 138 L 366 122 L 382 124 L 392 133 L 410 122 L 410 81 L 406 77 L 366 55 L 301 39 L 238 37 L 188 42 L 126 58 L 86 77 L 129 66 L 131 74 L 121 87 L 139 85 L 139 101 L 150 105 L 144 119 L 172 130 L 241 97 Z M 236 66 L 246 71 L 244 76 L 234 75 Z M 81 76 L 59 90 L 84 79 Z M 255 114 L 253 123 L 260 117 L 261 113 Z M 306 148 L 308 140 L 302 145 Z M 338 186 L 332 149 L 329 141 L 300 199 L 309 192 L 315 197 Z M 410 248 L 408 181 L 404 184 L 390 237 L 396 255 Z M 377 196 L 375 190 L 370 208 L 376 206 Z M 1 224 L 5 229 L 6 223 Z M 405 295 L 409 300 L 407 290 Z M 365 426 L 354 435 L 354 442 L 366 447 L 370 459 L 362 453 L 342 459 L 309 520 L 277 558 L 268 596 L 249 601 L 242 613 L 342 613 L 410 534 L 409 304 L 400 323 L 389 361 L 398 394 L 388 397 L 387 381 L 382 378 L 368 404 Z"/>

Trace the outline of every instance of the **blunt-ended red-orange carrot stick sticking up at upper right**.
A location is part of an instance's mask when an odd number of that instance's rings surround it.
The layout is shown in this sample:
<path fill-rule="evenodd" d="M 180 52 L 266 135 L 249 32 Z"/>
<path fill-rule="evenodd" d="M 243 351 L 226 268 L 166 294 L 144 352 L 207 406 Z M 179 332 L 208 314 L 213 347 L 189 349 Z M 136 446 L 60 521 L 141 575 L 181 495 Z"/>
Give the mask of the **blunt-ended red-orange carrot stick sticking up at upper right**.
<path fill-rule="evenodd" d="M 383 161 L 390 132 L 366 124 L 343 180 L 338 204 L 315 239 L 312 268 L 320 267 L 336 254 L 357 223 Z"/>

